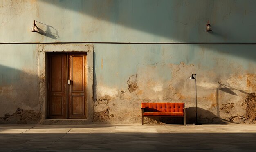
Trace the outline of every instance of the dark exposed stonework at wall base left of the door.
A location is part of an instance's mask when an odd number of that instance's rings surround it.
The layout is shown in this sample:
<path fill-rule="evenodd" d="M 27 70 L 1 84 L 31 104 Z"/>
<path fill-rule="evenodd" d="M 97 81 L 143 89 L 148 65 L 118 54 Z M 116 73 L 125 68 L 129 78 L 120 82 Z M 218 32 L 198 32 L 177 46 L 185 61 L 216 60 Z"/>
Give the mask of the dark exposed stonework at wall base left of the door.
<path fill-rule="evenodd" d="M 0 117 L 0 124 L 37 124 L 41 120 L 41 113 L 33 110 L 17 109 L 12 115 Z"/>

